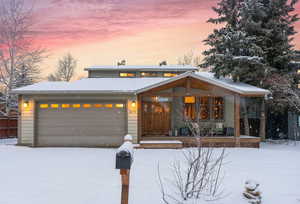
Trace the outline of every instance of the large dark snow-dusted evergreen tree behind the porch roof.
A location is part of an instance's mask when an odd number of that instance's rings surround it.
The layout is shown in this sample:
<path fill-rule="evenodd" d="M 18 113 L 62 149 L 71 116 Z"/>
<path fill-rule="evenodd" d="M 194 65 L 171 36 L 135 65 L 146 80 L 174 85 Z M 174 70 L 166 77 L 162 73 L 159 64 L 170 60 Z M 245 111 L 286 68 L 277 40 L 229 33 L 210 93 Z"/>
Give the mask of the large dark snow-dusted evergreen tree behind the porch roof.
<path fill-rule="evenodd" d="M 213 8 L 218 18 L 208 22 L 224 27 L 215 29 L 204 41 L 202 67 L 211 67 L 216 77 L 231 76 L 253 85 L 266 87 L 272 73 L 290 71 L 293 57 L 291 14 L 297 0 L 221 0 Z"/>

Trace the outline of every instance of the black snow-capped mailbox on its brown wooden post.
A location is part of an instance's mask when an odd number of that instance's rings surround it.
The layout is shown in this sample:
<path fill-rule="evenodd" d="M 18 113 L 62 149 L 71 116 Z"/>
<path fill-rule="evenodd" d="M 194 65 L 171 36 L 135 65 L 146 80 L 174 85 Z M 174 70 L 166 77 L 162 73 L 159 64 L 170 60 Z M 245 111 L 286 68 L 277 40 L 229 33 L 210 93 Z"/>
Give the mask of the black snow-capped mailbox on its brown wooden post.
<path fill-rule="evenodd" d="M 116 154 L 116 169 L 120 169 L 122 181 L 121 204 L 128 204 L 129 197 L 129 176 L 130 168 L 133 162 L 132 136 L 126 135 L 124 143 L 121 145 Z"/>

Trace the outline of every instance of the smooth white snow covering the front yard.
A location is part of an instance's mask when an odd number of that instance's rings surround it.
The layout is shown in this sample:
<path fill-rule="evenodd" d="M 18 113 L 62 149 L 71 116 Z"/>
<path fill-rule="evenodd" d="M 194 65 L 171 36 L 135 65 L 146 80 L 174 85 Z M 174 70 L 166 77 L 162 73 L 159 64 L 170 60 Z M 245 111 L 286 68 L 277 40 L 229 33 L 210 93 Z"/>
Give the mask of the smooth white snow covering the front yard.
<path fill-rule="evenodd" d="M 1 204 L 119 204 L 120 175 L 116 149 L 28 148 L 0 141 Z M 263 144 L 260 149 L 230 148 L 222 200 L 243 204 L 244 182 L 260 183 L 263 203 L 300 204 L 300 144 Z M 181 150 L 135 150 L 130 178 L 130 204 L 159 204 L 161 174 L 171 176 L 170 163 Z"/>

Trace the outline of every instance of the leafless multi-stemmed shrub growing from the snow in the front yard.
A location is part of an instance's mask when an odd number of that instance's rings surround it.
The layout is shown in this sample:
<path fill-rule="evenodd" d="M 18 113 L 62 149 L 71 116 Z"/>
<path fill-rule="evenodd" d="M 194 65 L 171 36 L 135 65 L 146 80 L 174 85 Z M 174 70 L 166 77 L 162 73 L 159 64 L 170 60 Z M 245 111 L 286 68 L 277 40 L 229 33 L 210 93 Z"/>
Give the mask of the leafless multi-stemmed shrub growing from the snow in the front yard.
<path fill-rule="evenodd" d="M 219 154 L 214 148 L 187 149 L 184 160 L 171 165 L 172 178 L 162 179 L 158 166 L 158 177 L 162 200 L 166 204 L 184 204 L 187 201 L 217 200 L 223 196 L 222 166 L 225 149 Z"/>

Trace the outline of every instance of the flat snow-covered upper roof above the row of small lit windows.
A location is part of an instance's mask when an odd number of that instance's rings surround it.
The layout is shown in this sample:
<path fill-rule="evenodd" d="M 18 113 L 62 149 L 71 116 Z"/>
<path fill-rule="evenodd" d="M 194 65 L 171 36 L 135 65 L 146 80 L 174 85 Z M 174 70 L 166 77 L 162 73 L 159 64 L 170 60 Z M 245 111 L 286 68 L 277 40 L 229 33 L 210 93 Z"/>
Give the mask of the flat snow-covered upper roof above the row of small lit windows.
<path fill-rule="evenodd" d="M 101 66 L 91 66 L 85 68 L 87 71 L 91 70 L 101 70 L 101 71 L 197 71 L 198 67 L 191 65 L 101 65 Z"/>

